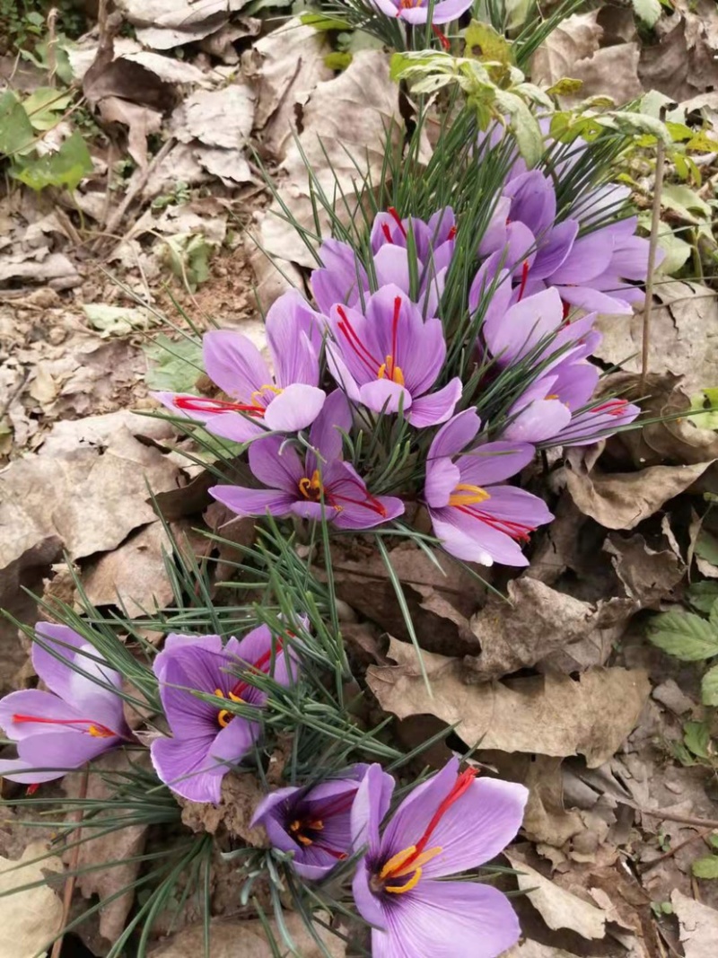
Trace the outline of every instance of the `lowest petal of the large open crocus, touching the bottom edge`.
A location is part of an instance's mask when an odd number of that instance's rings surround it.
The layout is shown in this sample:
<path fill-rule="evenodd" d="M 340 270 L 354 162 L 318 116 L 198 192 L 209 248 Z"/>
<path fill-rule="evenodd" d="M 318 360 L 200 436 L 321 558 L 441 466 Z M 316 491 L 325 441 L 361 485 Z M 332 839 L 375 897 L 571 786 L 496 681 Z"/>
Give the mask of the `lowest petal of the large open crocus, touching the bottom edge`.
<path fill-rule="evenodd" d="M 521 936 L 510 902 L 489 885 L 422 878 L 392 898 L 386 931 L 371 932 L 373 958 L 497 958 Z"/>

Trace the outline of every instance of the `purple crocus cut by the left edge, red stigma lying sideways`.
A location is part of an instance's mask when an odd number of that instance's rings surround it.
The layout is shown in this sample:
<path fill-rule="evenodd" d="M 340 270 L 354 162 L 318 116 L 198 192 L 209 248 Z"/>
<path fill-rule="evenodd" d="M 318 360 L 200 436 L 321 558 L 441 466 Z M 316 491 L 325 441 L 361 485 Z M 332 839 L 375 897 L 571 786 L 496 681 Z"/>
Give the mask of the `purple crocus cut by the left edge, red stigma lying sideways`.
<path fill-rule="evenodd" d="M 48 649 L 34 643 L 33 667 L 50 691 L 0 700 L 0 728 L 18 754 L 0 762 L 0 776 L 29 784 L 61 778 L 130 738 L 116 691 L 120 674 L 72 628 L 41 622 L 35 630 Z"/>

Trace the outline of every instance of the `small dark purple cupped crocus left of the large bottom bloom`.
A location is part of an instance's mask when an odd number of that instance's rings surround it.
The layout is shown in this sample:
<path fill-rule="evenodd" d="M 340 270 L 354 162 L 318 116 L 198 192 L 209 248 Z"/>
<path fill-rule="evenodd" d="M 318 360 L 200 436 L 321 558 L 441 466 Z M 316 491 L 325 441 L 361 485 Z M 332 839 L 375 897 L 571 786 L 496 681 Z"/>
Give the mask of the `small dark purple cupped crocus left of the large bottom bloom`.
<path fill-rule="evenodd" d="M 259 803 L 252 824 L 264 826 L 275 848 L 294 853 L 299 875 L 324 878 L 351 854 L 351 806 L 369 767 L 352 765 L 313 787 L 279 788 Z M 383 775 L 391 787 L 391 775 Z"/>

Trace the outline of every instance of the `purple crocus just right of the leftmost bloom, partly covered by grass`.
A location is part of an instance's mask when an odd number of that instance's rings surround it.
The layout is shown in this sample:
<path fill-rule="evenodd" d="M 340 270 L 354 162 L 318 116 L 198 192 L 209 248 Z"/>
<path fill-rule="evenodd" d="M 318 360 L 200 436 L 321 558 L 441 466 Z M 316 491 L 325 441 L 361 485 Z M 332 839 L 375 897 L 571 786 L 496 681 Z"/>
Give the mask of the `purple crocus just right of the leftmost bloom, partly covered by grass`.
<path fill-rule="evenodd" d="M 259 626 L 237 641 L 222 644 L 219 635 L 168 635 L 152 665 L 172 738 L 150 746 L 160 779 L 192 802 L 221 798 L 222 779 L 241 762 L 257 740 L 258 721 L 233 715 L 222 699 L 261 708 L 266 693 L 252 685 L 252 673 L 269 673 L 288 685 L 288 655 L 269 627 Z M 237 677 L 239 673 L 239 677 Z M 192 690 L 216 696 L 205 701 Z"/>

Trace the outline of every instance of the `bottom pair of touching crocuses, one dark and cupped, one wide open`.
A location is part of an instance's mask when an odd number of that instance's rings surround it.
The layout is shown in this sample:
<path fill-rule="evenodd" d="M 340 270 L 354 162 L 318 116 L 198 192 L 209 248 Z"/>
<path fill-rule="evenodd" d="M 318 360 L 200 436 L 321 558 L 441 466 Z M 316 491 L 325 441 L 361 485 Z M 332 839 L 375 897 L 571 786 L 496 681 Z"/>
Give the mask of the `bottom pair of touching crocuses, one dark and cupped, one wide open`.
<path fill-rule="evenodd" d="M 325 878 L 358 855 L 353 895 L 372 925 L 375 958 L 494 958 L 520 928 L 502 892 L 476 881 L 438 880 L 476 869 L 521 827 L 524 786 L 459 772 L 457 759 L 411 790 L 389 814 L 394 781 L 358 764 L 313 787 L 280 788 L 258 807 L 275 848 L 303 878 Z"/>

